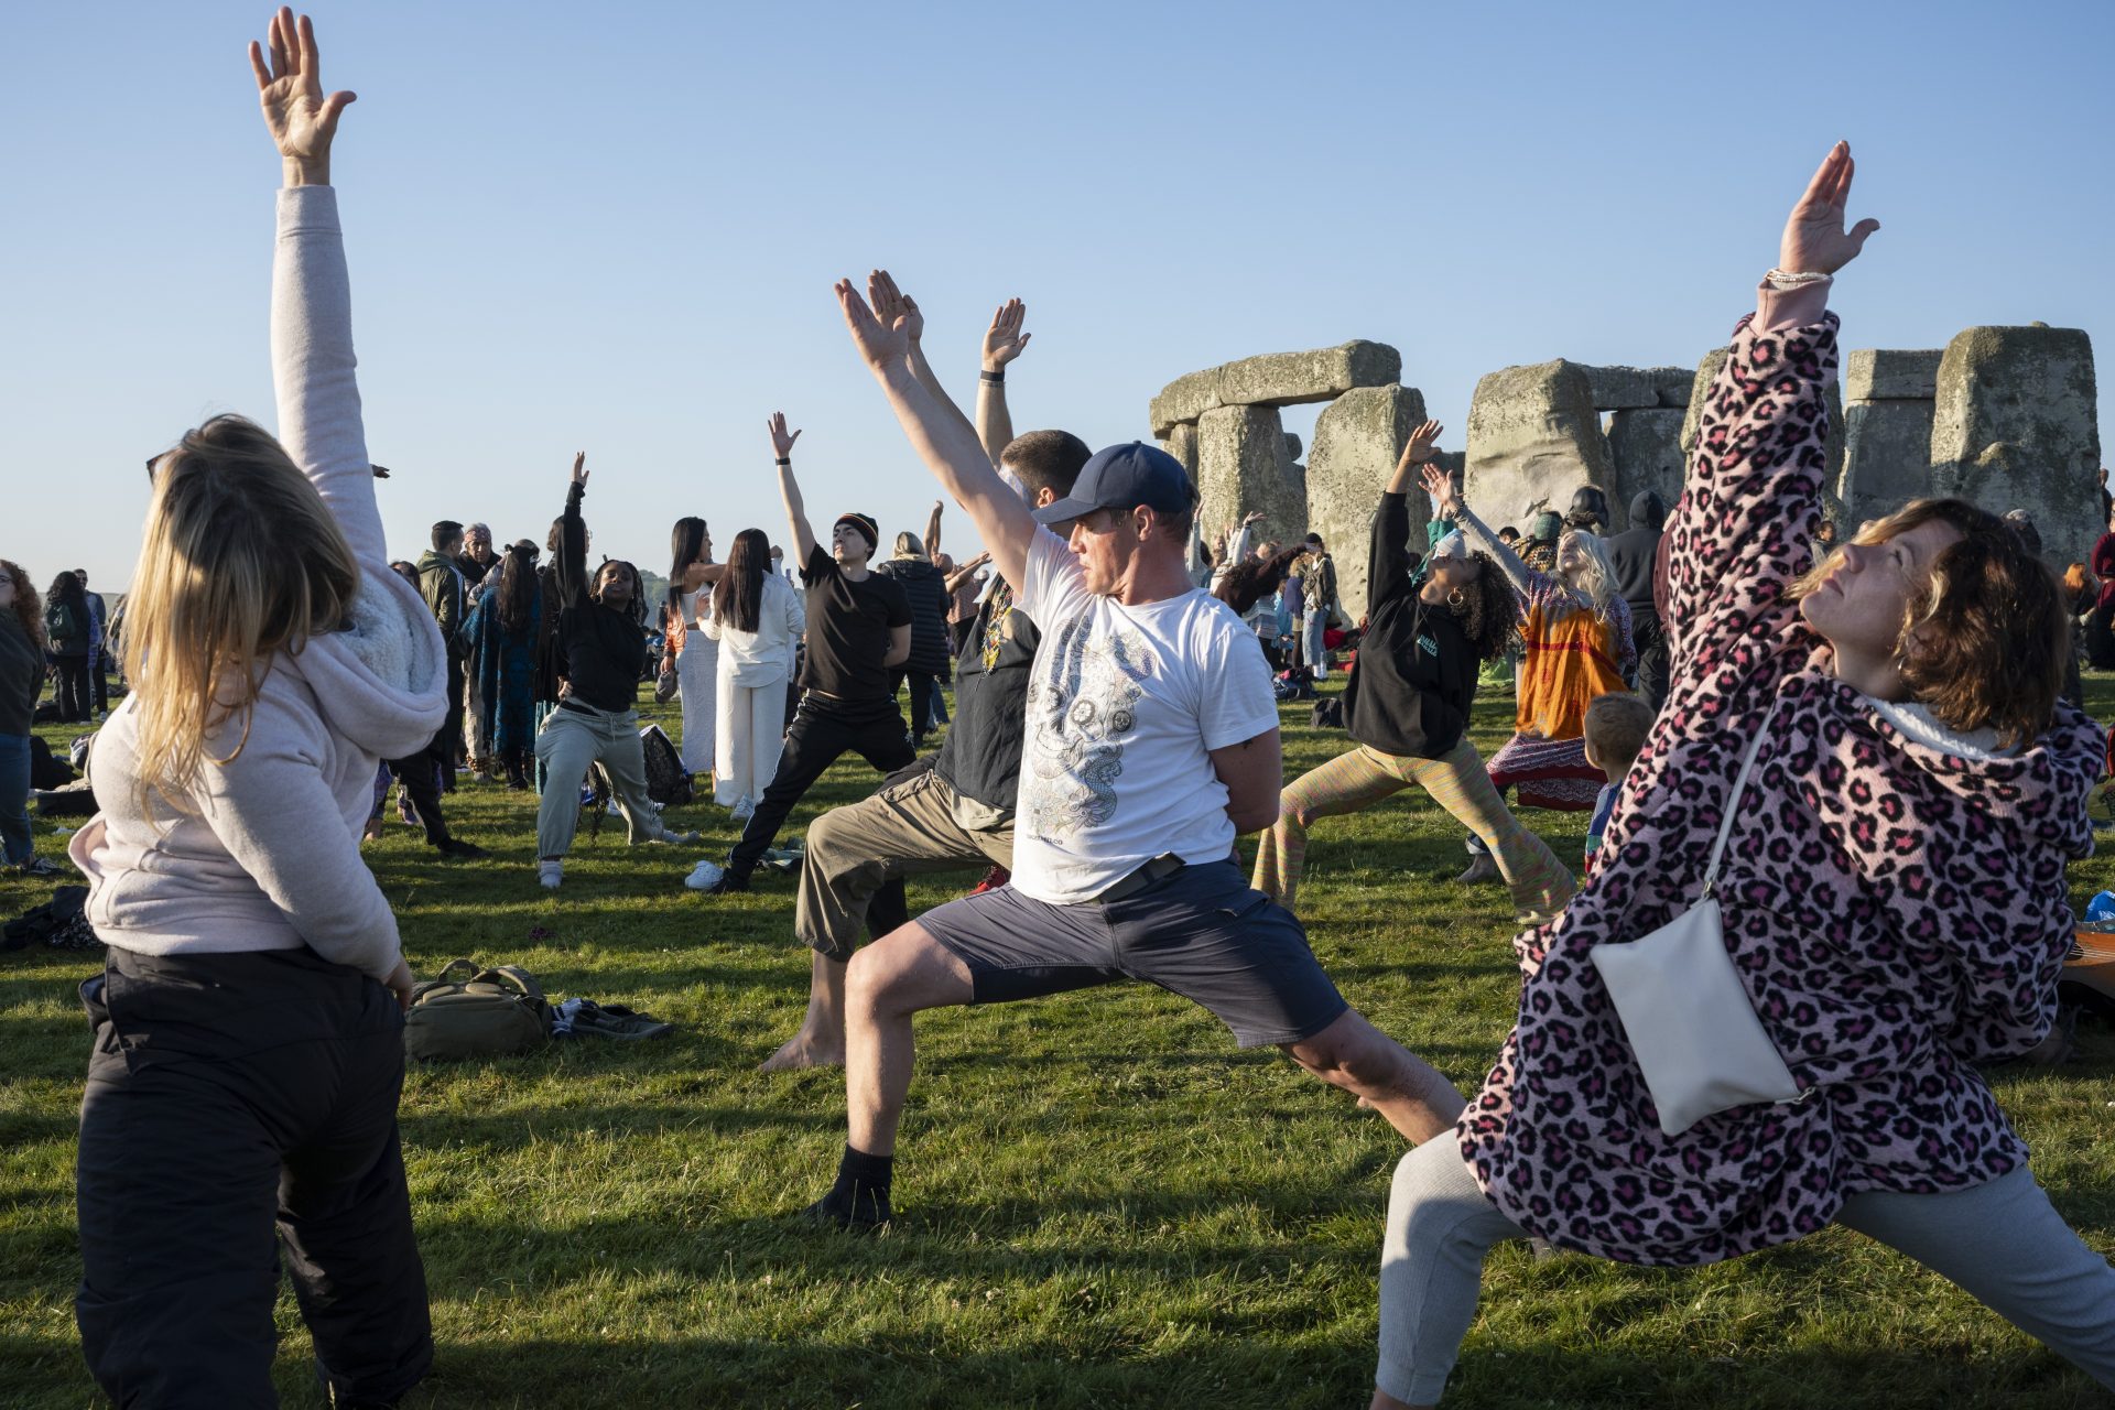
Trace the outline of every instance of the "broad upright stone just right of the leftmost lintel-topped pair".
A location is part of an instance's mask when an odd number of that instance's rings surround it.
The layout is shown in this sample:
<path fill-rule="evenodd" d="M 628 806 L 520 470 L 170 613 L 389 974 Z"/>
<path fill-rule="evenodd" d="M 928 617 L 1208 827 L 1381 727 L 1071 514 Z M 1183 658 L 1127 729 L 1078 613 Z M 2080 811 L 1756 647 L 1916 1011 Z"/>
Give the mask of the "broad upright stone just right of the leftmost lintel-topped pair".
<path fill-rule="evenodd" d="M 1461 490 L 1487 524 L 1519 524 L 1535 501 L 1563 512 L 1582 484 L 1607 490 L 1610 474 L 1593 385 L 1576 361 L 1504 368 L 1476 383 Z"/>

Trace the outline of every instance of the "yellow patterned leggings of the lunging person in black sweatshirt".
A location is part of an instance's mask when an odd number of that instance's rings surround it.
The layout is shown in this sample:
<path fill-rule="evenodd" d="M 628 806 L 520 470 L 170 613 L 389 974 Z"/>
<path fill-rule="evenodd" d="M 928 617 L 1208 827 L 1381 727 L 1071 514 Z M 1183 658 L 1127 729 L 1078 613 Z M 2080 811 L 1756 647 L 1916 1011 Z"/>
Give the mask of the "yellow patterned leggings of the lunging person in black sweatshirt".
<path fill-rule="evenodd" d="M 1290 911 L 1307 865 L 1307 829 L 1313 820 L 1362 812 L 1411 784 L 1430 793 L 1434 803 L 1491 848 L 1514 909 L 1540 922 L 1555 917 L 1571 901 L 1571 873 L 1546 841 L 1512 816 L 1468 740 L 1438 759 L 1404 759 L 1360 744 L 1349 755 L 1301 774 L 1277 797 L 1277 824 L 1263 835 L 1250 884 Z"/>

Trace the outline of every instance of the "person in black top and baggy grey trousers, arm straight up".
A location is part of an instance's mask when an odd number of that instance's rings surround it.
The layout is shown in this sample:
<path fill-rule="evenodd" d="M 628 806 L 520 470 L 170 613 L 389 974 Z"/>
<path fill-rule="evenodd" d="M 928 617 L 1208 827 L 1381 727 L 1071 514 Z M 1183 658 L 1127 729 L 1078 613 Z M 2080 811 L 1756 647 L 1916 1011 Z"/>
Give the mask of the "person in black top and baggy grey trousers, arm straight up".
<path fill-rule="evenodd" d="M 573 457 L 573 480 L 558 516 L 558 651 L 565 657 L 565 693 L 544 717 L 535 757 L 544 765 L 537 805 L 537 882 L 556 890 L 565 854 L 580 831 L 580 784 L 588 767 L 603 765 L 609 791 L 624 814 L 626 837 L 694 843 L 698 833 L 670 833 L 647 799 L 647 757 L 639 744 L 639 676 L 647 666 L 647 602 L 639 569 L 609 558 L 588 579 L 588 524 L 580 499 L 588 493 L 588 452 Z"/>

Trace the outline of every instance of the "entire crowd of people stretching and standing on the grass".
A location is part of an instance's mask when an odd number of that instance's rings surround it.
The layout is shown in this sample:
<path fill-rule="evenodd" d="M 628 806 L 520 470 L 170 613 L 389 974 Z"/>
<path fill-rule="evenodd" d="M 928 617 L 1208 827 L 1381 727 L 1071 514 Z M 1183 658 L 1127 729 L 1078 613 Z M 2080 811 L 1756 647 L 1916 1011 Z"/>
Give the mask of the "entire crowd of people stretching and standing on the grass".
<path fill-rule="evenodd" d="M 2090 850 L 2104 753 L 2066 700 L 2071 641 L 2115 638 L 2115 520 L 2068 577 L 2030 526 L 1952 499 L 1832 541 L 1827 304 L 1878 228 L 1844 228 L 1846 146 L 1734 330 L 1681 499 L 1641 495 L 1622 533 L 1590 486 L 1525 535 L 1493 528 L 1426 423 L 1358 545 L 1371 602 L 1347 621 L 1305 526 L 1271 541 L 1250 514 L 1208 539 L 1163 450 L 1015 433 L 1017 300 L 964 414 L 916 300 L 876 271 L 835 296 L 941 493 L 924 533 L 884 556 L 876 518 L 846 509 L 819 539 L 802 431 L 774 414 L 797 581 L 764 528 L 719 562 L 687 516 L 649 594 L 628 560 L 590 567 L 586 454 L 541 545 L 442 520 L 417 562 L 387 556 L 330 184 L 351 95 L 324 91 L 290 11 L 252 66 L 286 173 L 279 435 L 216 416 L 154 457 L 123 624 L 85 573 L 38 596 L 0 562 L 8 865 L 34 865 L 17 780 L 47 674 L 59 717 L 91 723 L 106 666 L 129 683 L 70 843 L 108 945 L 82 985 L 78 1325 L 114 1399 L 269 1404 L 275 1237 L 338 1404 L 393 1404 L 425 1374 L 396 1116 L 412 975 L 360 841 L 393 778 L 440 856 L 474 865 L 444 812 L 478 769 L 537 795 L 546 888 L 590 772 L 630 841 L 694 843 L 649 797 L 647 683 L 681 702 L 681 769 L 742 827 L 689 873 L 698 892 L 749 890 L 844 755 L 878 776 L 806 831 L 808 1013 L 766 1061 L 844 1065 L 844 1150 L 806 1209 L 825 1226 L 893 1218 L 918 1013 L 1144 981 L 1411 1146 L 1381 1232 L 1375 1406 L 1438 1402 L 1500 1241 L 1705 1264 L 1829 1224 L 2115 1387 L 2115 1268 L 1975 1068 L 2052 1025 L 2064 862 Z M 939 550 L 950 503 L 986 550 L 964 562 Z M 1349 748 L 1288 782 L 1280 695 L 1335 670 Z M 1508 679 L 1514 734 L 1483 759 L 1470 710 Z M 1413 784 L 1468 831 L 1464 882 L 1502 879 L 1521 926 L 1519 1019 L 1470 1095 L 1345 1000 L 1294 913 L 1316 822 Z M 1527 808 L 1590 814 L 1576 871 Z M 905 877 L 937 871 L 975 886 L 909 915 Z M 1681 1019 L 1605 979 L 1599 951 L 1722 901 L 1719 983 L 1789 1087 L 1677 1120 L 1673 1076 L 1641 1055 Z"/>

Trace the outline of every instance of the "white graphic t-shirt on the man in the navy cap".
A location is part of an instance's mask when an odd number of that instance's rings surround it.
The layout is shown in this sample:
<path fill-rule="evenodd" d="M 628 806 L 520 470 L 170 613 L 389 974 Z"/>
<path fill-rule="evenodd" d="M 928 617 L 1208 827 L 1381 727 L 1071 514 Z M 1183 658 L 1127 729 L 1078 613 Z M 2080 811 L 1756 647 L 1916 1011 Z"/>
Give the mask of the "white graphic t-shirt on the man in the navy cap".
<path fill-rule="evenodd" d="M 1064 539 L 1036 531 L 1017 607 L 1041 628 L 1013 816 L 1013 886 L 1091 901 L 1167 852 L 1233 852 L 1208 750 L 1277 727 L 1256 634 L 1218 598 L 1125 607 L 1087 592 Z"/>

